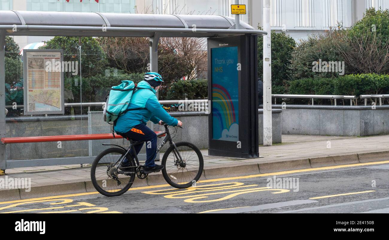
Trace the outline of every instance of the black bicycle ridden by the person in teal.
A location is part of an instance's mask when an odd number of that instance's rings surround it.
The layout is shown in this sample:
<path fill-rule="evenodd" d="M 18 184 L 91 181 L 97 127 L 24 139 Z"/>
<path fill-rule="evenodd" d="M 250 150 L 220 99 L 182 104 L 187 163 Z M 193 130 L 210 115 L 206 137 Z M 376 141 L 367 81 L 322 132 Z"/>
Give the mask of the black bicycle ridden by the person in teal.
<path fill-rule="evenodd" d="M 204 167 L 203 155 L 200 152 L 200 149 L 189 142 L 178 142 L 175 144 L 172 140 L 175 135 L 173 137 L 170 135 L 169 125 L 163 122 L 162 124 L 165 126 L 165 131 L 158 133 L 157 137 L 161 138 L 165 135 L 166 137 L 157 147 L 157 154 L 162 149 L 163 145 L 166 143 L 169 143 L 170 145 L 165 154 L 163 154 L 161 164 L 164 168 L 161 170 L 162 175 L 166 182 L 172 187 L 190 187 L 195 184 L 202 175 Z M 177 129 L 178 128 L 175 127 L 173 133 L 176 133 Z M 135 180 L 135 175 L 137 175 L 139 179 L 145 179 L 148 176 L 148 174 L 143 172 L 144 166 L 140 165 L 138 156 L 135 154 L 135 145 L 144 141 L 134 142 L 129 138 L 127 140 L 130 141 L 130 146 L 127 149 L 116 144 L 102 144 L 116 147 L 104 150 L 96 156 L 93 161 L 91 168 L 92 184 L 99 193 L 105 196 L 119 196 L 128 191 Z M 134 156 L 129 154 L 131 149 Z M 130 164 L 127 167 L 119 168 L 124 158 L 127 158 Z M 100 186 L 100 183 L 102 186 Z"/>

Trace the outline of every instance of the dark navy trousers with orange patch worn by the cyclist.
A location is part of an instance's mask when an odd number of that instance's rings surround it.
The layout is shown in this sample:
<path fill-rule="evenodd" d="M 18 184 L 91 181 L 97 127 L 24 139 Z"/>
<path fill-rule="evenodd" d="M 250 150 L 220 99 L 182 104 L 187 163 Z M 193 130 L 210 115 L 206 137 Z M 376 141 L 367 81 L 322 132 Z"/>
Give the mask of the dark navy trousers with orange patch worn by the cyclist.
<path fill-rule="evenodd" d="M 152 168 L 155 166 L 154 159 L 157 156 L 157 135 L 146 124 L 141 123 L 134 126 L 130 131 L 126 133 L 117 133 L 124 138 L 130 138 L 133 141 L 142 141 L 142 143 L 135 145 L 135 151 L 138 155 L 140 149 L 142 149 L 144 142 L 146 142 L 146 163 L 145 166 Z M 135 155 L 131 149 L 130 154 L 133 158 Z M 127 162 L 127 158 L 123 162 Z"/>

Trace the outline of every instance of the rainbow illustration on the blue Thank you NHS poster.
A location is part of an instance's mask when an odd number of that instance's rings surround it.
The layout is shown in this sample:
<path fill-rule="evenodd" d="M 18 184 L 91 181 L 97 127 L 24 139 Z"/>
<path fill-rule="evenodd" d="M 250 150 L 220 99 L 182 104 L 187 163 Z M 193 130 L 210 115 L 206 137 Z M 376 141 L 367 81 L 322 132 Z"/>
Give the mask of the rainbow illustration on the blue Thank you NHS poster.
<path fill-rule="evenodd" d="M 224 129 L 228 130 L 233 123 L 237 123 L 234 102 L 226 88 L 219 84 L 212 84 L 213 128 L 216 130 L 215 128 L 219 127 L 216 132 L 220 135 Z"/>

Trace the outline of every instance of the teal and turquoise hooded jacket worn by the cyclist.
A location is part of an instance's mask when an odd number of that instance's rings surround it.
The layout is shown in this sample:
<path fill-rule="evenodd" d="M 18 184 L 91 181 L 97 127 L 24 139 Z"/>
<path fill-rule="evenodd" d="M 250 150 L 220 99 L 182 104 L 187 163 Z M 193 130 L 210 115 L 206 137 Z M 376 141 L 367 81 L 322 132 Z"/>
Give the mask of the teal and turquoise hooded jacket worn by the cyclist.
<path fill-rule="evenodd" d="M 129 110 L 117 118 L 114 127 L 115 131 L 126 133 L 140 123 L 152 121 L 158 124 L 159 120 L 164 121 L 170 126 L 177 126 L 178 120 L 170 116 L 163 109 L 155 93 L 156 91 L 150 84 L 145 81 L 139 82 L 127 108 L 135 110 Z"/>

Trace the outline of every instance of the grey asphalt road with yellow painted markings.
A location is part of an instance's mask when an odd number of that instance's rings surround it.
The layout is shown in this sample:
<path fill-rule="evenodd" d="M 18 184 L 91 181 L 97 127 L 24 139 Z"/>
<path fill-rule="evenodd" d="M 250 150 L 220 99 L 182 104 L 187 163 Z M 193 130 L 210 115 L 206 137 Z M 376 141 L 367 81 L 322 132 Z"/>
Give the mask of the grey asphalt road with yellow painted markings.
<path fill-rule="evenodd" d="M 117 197 L 82 193 L 2 202 L 0 213 L 389 213 L 388 173 L 389 164 L 297 170 L 207 180 L 189 189 L 138 187 Z"/>

